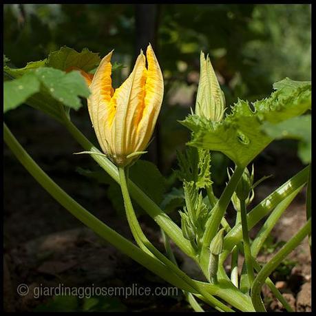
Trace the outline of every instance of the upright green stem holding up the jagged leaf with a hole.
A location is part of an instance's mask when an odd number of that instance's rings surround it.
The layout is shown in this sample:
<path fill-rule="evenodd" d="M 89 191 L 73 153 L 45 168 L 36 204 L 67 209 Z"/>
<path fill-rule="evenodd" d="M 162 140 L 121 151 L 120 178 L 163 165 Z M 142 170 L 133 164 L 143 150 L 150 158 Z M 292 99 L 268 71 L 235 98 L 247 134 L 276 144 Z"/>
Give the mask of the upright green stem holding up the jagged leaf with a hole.
<path fill-rule="evenodd" d="M 207 267 L 209 266 L 209 245 L 211 244 L 211 240 L 215 237 L 218 227 L 220 227 L 220 222 L 222 221 L 224 213 L 231 201 L 231 196 L 233 196 L 233 192 L 243 172 L 244 167 L 237 167 L 235 169 L 233 176 L 231 176 L 231 179 L 222 192 L 222 196 L 220 196 L 220 199 L 213 208 L 211 218 L 207 221 L 207 229 L 203 235 L 202 251 L 200 254 L 200 264 L 204 273 L 207 273 Z"/>

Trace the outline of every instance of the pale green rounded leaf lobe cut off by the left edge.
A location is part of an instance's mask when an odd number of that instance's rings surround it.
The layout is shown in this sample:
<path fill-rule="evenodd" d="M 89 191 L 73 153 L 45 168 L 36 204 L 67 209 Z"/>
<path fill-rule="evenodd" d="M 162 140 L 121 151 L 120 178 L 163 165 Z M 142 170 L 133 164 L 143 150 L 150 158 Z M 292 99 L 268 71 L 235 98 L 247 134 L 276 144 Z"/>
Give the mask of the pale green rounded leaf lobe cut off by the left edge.
<path fill-rule="evenodd" d="M 3 83 L 3 113 L 15 109 L 32 94 L 39 92 L 40 82 L 34 74 L 25 74 L 21 78 Z"/>

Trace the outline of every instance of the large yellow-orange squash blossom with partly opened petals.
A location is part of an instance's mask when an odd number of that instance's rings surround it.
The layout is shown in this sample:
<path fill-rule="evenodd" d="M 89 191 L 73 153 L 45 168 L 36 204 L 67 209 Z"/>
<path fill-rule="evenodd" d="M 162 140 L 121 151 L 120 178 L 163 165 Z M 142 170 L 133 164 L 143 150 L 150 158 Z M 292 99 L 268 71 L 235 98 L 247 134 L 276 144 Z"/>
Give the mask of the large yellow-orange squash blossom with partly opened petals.
<path fill-rule="evenodd" d="M 149 143 L 162 103 L 163 78 L 149 45 L 147 67 L 140 51 L 134 70 L 114 90 L 112 52 L 102 59 L 89 85 L 88 108 L 98 143 L 116 165 L 123 167 L 139 156 Z"/>

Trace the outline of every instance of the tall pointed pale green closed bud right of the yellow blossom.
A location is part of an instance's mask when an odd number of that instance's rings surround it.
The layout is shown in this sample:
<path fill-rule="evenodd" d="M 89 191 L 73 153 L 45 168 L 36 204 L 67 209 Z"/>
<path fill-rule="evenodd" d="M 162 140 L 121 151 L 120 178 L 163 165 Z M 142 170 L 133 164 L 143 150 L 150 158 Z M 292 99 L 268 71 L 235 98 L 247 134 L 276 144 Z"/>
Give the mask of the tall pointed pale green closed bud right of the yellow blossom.
<path fill-rule="evenodd" d="M 200 54 L 200 81 L 196 96 L 196 114 L 218 122 L 222 120 L 225 110 L 225 97 L 218 78 L 213 70 L 209 55 L 205 59 L 204 52 Z"/>

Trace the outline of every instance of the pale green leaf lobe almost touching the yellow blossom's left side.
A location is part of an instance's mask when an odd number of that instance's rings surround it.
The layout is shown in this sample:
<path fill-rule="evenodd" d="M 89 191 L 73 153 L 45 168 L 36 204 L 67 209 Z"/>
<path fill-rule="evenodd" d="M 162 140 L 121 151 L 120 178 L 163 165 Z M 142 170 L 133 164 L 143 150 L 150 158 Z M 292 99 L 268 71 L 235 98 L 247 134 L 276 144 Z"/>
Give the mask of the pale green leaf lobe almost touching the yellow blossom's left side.
<path fill-rule="evenodd" d="M 89 88 L 85 79 L 79 72 L 65 73 L 54 68 L 42 67 L 35 70 L 36 76 L 41 80 L 46 91 L 57 101 L 78 109 L 81 107 L 81 100 L 78 96 L 87 98 Z"/>

